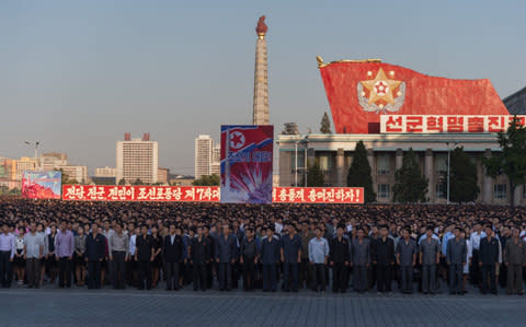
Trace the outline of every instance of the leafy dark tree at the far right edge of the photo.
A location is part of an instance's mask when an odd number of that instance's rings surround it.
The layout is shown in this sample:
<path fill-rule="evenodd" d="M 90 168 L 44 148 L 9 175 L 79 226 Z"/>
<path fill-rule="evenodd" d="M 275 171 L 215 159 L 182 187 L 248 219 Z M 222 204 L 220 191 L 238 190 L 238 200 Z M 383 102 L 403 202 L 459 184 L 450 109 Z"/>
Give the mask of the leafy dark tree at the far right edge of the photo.
<path fill-rule="evenodd" d="M 482 160 L 485 174 L 492 178 L 506 175 L 510 186 L 510 205 L 515 206 L 515 188 L 526 184 L 526 128 L 515 116 L 505 132 L 498 135 L 502 153 Z"/>

